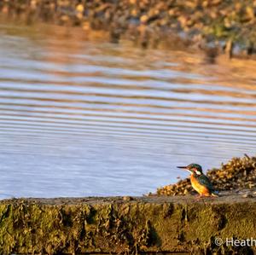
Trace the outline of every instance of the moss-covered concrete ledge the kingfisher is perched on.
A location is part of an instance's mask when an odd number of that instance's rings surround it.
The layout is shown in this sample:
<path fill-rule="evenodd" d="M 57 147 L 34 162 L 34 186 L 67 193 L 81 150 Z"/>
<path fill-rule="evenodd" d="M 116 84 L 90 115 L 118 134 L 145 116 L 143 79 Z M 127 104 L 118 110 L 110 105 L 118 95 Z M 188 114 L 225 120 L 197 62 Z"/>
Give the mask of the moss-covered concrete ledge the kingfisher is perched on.
<path fill-rule="evenodd" d="M 247 254 L 253 248 L 214 240 L 255 237 L 255 219 L 256 198 L 235 193 L 199 201 L 190 195 L 3 200 L 0 253 Z"/>

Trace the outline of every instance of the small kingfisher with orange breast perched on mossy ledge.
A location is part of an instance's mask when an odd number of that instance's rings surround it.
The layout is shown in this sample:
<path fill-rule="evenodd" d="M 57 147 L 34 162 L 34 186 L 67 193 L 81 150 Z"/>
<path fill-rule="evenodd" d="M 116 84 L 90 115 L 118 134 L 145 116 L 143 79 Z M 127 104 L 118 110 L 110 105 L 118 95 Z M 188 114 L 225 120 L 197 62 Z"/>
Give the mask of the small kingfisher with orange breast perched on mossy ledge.
<path fill-rule="evenodd" d="M 187 166 L 177 166 L 190 172 L 190 182 L 192 187 L 201 196 L 218 196 L 217 191 L 213 188 L 212 183 L 206 175 L 203 174 L 201 165 L 190 164 Z"/>

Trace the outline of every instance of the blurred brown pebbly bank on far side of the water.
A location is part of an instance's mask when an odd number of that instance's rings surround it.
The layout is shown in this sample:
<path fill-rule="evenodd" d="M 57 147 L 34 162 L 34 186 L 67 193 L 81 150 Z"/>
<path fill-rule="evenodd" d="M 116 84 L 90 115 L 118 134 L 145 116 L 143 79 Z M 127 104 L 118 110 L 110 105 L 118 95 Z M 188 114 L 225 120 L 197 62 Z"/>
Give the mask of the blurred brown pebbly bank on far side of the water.
<path fill-rule="evenodd" d="M 251 0 L 85 1 L 9 0 L 0 13 L 26 20 L 63 26 L 81 26 L 85 32 L 104 30 L 118 43 L 129 38 L 143 47 L 194 47 L 214 57 L 255 53 L 256 3 Z M 178 43 L 177 43 L 178 42 Z"/>

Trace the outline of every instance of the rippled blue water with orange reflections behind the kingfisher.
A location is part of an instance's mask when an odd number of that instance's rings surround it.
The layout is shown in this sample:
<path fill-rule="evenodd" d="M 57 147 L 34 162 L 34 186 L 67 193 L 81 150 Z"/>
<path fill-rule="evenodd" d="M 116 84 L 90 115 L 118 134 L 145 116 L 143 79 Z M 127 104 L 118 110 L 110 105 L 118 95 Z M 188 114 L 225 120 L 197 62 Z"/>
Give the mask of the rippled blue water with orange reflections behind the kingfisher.
<path fill-rule="evenodd" d="M 256 149 L 256 66 L 0 26 L 0 198 L 141 195 Z"/>

